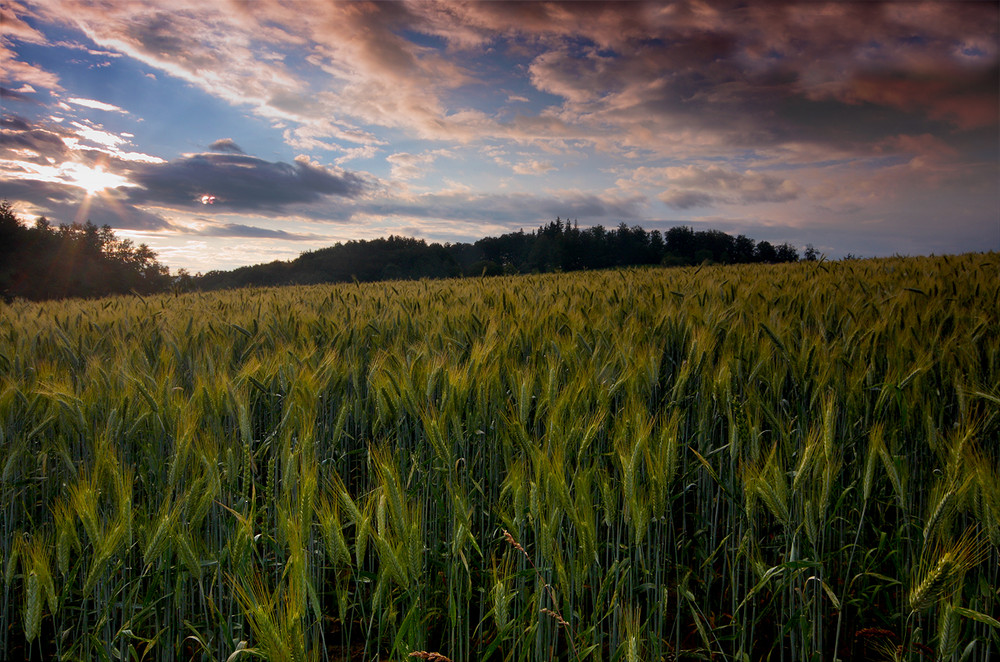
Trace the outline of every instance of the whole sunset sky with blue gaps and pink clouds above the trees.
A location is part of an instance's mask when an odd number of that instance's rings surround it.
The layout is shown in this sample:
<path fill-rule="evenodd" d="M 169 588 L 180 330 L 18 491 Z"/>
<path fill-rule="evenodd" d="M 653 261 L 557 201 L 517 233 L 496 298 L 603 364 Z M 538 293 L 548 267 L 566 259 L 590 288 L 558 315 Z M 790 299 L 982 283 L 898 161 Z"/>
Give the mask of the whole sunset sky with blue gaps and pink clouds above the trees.
<path fill-rule="evenodd" d="M 0 0 L 0 198 L 192 273 L 557 216 L 995 251 L 998 8 Z"/>

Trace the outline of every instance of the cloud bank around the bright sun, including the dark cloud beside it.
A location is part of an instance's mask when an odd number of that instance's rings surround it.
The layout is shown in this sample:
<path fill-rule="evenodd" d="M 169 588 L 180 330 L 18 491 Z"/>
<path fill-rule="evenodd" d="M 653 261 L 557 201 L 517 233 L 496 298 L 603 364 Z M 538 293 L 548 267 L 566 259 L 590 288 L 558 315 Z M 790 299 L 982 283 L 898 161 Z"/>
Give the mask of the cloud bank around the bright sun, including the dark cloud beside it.
<path fill-rule="evenodd" d="M 290 206 L 330 198 L 354 199 L 374 186 L 365 176 L 325 167 L 304 156 L 291 164 L 248 156 L 228 138 L 212 143 L 213 152 L 170 162 L 124 151 L 127 143 L 128 138 L 91 124 L 4 116 L 0 119 L 0 178 L 5 194 L 59 222 L 80 220 L 77 214 L 86 202 L 88 213 L 97 217 L 95 222 L 169 229 L 162 216 L 142 208 L 201 209 L 210 202 L 217 211 L 273 215 Z M 85 196 L 94 173 L 100 173 L 106 186 L 118 190 Z M 285 238 L 293 237 L 289 233 Z"/>

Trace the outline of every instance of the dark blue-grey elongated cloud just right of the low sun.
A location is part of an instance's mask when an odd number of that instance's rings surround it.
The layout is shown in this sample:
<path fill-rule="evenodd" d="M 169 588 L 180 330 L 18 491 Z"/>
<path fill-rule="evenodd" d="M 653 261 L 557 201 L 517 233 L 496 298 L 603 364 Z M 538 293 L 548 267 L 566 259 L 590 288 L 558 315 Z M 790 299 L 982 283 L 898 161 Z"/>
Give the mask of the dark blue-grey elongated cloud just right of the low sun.
<path fill-rule="evenodd" d="M 142 164 L 130 174 L 136 204 L 277 211 L 328 196 L 356 198 L 369 183 L 354 173 L 325 168 L 306 158 L 270 162 L 245 154 L 193 154 L 168 163 Z M 208 196 L 208 197 L 205 197 Z"/>

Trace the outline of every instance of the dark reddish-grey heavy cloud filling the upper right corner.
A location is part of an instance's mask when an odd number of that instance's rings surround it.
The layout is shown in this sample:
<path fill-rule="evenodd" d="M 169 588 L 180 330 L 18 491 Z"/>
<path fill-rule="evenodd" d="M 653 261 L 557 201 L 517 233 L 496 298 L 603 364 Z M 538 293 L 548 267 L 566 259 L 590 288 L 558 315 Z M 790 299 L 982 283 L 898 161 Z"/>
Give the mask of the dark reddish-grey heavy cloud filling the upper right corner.
<path fill-rule="evenodd" d="M 563 99 L 556 116 L 590 128 L 595 141 L 607 130 L 625 148 L 680 157 L 791 141 L 864 150 L 935 122 L 995 126 L 995 51 L 975 50 L 983 53 L 975 64 L 955 51 L 983 32 L 982 22 L 996 25 L 996 7 L 951 14 L 952 5 L 928 4 L 933 11 L 914 26 L 877 3 L 675 3 L 640 36 L 623 30 L 620 38 L 595 35 L 591 46 L 562 43 L 537 55 L 529 72 L 538 89 Z M 915 29 L 919 47 L 910 45 Z M 985 30 L 995 37 L 995 27 Z M 859 82 L 898 71 L 930 84 L 880 95 Z"/>

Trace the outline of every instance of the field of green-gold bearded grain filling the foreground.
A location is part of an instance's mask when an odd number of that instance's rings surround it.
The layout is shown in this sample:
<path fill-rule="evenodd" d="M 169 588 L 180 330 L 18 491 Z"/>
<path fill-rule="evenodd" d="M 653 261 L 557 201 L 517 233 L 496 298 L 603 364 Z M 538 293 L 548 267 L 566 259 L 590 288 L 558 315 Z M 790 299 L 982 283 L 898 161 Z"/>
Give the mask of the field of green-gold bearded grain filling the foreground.
<path fill-rule="evenodd" d="M 10 660 L 997 659 L 1000 256 L 0 309 Z"/>

